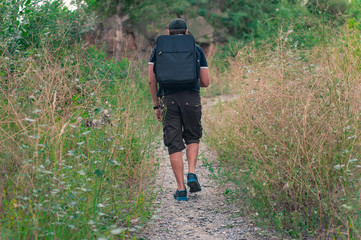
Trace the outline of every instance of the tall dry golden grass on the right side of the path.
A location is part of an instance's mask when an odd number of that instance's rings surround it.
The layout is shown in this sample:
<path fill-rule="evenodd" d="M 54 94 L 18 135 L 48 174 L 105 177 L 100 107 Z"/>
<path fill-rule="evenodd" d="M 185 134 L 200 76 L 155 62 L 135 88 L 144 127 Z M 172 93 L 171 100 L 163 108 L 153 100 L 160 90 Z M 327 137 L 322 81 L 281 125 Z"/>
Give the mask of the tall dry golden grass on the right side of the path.
<path fill-rule="evenodd" d="M 214 109 L 207 138 L 240 207 L 294 237 L 358 239 L 360 33 L 310 51 L 288 47 L 290 34 L 229 61 L 239 98 Z"/>

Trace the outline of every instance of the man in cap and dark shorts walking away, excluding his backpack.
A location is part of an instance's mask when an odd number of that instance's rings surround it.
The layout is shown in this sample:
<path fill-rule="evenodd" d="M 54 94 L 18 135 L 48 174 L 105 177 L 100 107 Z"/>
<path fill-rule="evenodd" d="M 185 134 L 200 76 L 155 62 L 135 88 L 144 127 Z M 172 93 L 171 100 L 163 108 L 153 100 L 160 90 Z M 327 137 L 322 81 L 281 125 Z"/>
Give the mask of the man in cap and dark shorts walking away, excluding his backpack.
<path fill-rule="evenodd" d="M 187 35 L 186 22 L 180 18 L 173 19 L 169 23 L 168 34 L 171 36 Z M 187 190 L 183 179 L 182 151 L 184 149 L 186 149 L 188 160 L 187 185 L 190 187 L 190 192 L 201 191 L 196 175 L 199 140 L 202 137 L 199 91 L 200 87 L 208 87 L 209 85 L 207 61 L 203 50 L 196 45 L 197 61 L 200 63 L 200 67 L 197 69 L 199 81 L 197 81 L 196 86 L 182 90 L 164 89 L 161 86 L 158 89 L 154 73 L 154 63 L 157 57 L 156 48 L 157 46 L 153 49 L 149 60 L 149 90 L 154 104 L 155 116 L 159 122 L 163 122 L 164 145 L 168 147 L 170 162 L 177 181 L 178 189 L 174 198 L 178 201 L 187 201 Z"/>

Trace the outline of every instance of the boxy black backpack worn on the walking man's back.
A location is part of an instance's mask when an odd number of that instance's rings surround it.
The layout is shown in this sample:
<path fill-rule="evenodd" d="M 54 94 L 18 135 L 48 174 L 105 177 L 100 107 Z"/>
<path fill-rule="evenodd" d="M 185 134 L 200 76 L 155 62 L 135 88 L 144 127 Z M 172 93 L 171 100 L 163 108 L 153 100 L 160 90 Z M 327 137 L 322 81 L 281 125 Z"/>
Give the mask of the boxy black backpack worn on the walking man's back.
<path fill-rule="evenodd" d="M 157 38 L 155 76 L 164 89 L 189 89 L 198 82 L 199 63 L 192 35 Z"/>

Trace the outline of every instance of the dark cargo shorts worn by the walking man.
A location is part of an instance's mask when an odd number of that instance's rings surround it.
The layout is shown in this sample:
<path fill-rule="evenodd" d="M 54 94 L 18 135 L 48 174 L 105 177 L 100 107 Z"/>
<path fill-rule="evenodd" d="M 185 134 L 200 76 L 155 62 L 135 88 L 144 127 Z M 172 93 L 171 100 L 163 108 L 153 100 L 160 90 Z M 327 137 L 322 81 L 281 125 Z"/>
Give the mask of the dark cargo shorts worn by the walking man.
<path fill-rule="evenodd" d="M 186 90 L 166 95 L 162 107 L 163 139 L 169 154 L 183 151 L 184 142 L 199 143 L 202 137 L 202 106 L 199 92 Z"/>

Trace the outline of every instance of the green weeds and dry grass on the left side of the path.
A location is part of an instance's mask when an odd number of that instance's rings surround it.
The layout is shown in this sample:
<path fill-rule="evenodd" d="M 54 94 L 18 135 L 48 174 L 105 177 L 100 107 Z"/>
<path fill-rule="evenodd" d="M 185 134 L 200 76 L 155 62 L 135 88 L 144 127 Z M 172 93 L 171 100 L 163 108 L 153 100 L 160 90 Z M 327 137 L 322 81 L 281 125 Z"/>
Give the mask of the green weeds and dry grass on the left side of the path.
<path fill-rule="evenodd" d="M 131 238 L 154 197 L 139 64 L 76 45 L 0 59 L 0 238 Z"/>

